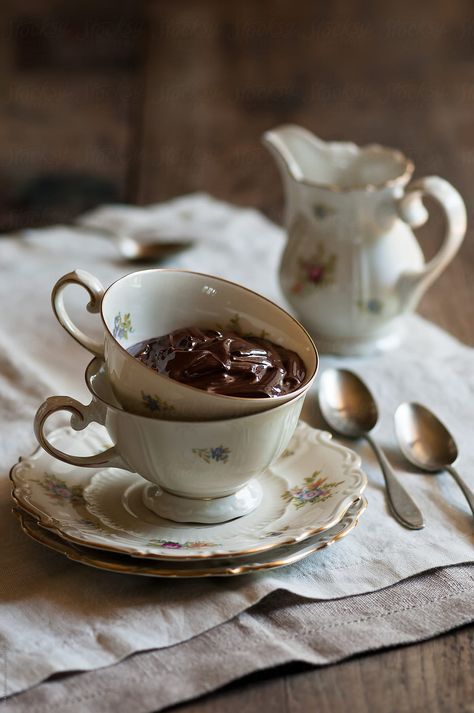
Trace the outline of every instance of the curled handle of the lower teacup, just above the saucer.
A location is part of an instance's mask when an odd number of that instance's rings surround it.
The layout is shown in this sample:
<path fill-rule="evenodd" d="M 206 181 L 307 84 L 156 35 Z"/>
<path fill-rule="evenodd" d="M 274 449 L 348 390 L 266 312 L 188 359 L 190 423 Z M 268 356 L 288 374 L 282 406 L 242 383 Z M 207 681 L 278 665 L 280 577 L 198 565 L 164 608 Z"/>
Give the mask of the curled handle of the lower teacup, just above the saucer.
<path fill-rule="evenodd" d="M 117 447 L 107 448 L 102 453 L 96 453 L 92 456 L 74 456 L 69 453 L 60 451 L 59 448 L 53 446 L 44 432 L 44 426 L 48 418 L 57 411 L 68 411 L 71 414 L 71 427 L 75 431 L 81 431 L 86 428 L 92 421 L 103 425 L 105 420 L 105 412 L 100 404 L 92 401 L 88 406 L 84 406 L 76 399 L 70 396 L 51 396 L 41 404 L 36 412 L 34 428 L 38 443 L 44 450 L 58 460 L 77 465 L 81 468 L 99 468 L 99 467 L 114 467 L 130 470 L 122 456 L 118 453 Z"/>

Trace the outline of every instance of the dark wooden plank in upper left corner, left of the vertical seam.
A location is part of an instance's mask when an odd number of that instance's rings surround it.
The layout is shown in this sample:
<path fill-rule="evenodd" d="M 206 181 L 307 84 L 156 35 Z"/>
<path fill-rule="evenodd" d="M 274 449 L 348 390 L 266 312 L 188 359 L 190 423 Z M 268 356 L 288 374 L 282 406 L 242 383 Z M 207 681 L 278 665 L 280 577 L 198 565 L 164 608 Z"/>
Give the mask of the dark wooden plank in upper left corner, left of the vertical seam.
<path fill-rule="evenodd" d="M 144 28 L 133 0 L 2 3 L 0 230 L 130 194 Z"/>

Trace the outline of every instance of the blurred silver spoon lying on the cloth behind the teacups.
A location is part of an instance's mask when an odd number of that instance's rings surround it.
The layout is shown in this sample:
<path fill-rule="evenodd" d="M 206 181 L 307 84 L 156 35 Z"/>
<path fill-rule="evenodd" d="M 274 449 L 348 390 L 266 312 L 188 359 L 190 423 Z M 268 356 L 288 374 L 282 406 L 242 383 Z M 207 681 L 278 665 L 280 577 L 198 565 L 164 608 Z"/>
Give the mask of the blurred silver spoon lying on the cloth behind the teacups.
<path fill-rule="evenodd" d="M 193 245 L 190 238 L 169 239 L 158 230 L 140 230 L 133 233 L 119 233 L 107 228 L 88 225 L 74 225 L 80 231 L 95 235 L 102 234 L 116 246 L 120 256 L 127 262 L 156 262 L 164 260 L 174 253 L 186 250 Z"/>

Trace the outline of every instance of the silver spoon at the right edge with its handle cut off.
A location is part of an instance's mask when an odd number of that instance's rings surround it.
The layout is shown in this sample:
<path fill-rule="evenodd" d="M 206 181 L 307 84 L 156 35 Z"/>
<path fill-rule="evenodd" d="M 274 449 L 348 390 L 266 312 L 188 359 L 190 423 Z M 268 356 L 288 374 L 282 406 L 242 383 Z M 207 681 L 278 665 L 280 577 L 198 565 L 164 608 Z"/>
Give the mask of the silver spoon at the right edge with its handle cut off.
<path fill-rule="evenodd" d="M 405 458 L 421 470 L 447 470 L 474 514 L 474 493 L 452 466 L 458 457 L 455 440 L 434 413 L 421 404 L 401 404 L 395 411 L 395 431 Z"/>

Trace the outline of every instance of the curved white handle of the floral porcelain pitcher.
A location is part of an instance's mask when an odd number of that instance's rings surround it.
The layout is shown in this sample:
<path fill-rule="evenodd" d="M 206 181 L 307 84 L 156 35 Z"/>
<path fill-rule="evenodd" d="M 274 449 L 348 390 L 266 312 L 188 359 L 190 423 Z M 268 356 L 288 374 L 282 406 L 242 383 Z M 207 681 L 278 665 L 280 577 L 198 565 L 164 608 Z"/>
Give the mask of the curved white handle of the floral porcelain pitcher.
<path fill-rule="evenodd" d="M 423 196 L 431 196 L 446 216 L 446 232 L 440 249 L 422 270 L 400 275 L 397 289 L 405 310 L 416 307 L 424 292 L 443 272 L 459 250 L 466 233 L 466 206 L 458 191 L 443 178 L 426 176 L 410 184 L 398 201 L 402 220 L 417 228 L 428 219 Z"/>

